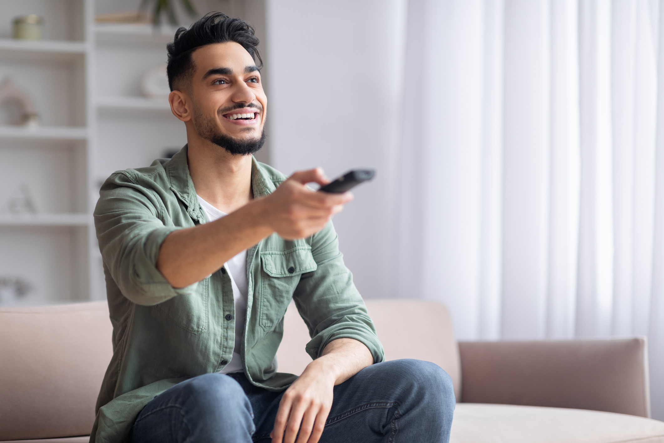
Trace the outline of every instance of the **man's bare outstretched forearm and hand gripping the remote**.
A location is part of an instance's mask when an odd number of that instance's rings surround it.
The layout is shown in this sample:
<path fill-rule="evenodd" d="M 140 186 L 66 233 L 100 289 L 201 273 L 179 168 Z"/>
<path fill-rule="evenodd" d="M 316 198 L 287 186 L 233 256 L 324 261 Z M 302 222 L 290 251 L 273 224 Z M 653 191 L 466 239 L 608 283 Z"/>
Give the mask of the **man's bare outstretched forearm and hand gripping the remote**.
<path fill-rule="evenodd" d="M 327 183 L 321 169 L 294 173 L 274 193 L 226 217 L 171 232 L 159 248 L 157 269 L 173 288 L 184 288 L 273 232 L 287 240 L 318 232 L 353 196 L 313 192 L 304 186 L 311 182 Z"/>

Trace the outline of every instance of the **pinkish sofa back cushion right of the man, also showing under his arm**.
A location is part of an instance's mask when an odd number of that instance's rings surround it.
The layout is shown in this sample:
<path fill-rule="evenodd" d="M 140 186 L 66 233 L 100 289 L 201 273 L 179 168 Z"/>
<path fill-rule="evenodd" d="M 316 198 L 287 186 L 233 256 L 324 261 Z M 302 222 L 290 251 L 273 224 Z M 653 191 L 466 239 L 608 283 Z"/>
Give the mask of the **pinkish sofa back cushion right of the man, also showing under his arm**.
<path fill-rule="evenodd" d="M 461 400 L 459 347 L 447 308 L 422 300 L 366 300 L 386 360 L 432 361 L 452 377 L 457 401 Z M 284 339 L 277 352 L 279 371 L 301 374 L 311 361 L 304 351 L 307 326 L 291 304 L 284 317 Z"/>

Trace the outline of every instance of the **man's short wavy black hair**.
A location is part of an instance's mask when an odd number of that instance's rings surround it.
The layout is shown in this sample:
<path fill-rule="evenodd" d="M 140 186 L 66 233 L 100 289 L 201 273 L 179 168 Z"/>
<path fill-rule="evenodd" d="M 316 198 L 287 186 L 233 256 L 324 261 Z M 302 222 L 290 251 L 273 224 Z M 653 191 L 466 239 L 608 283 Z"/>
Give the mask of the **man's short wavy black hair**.
<path fill-rule="evenodd" d="M 241 44 L 249 52 L 254 61 L 258 58 L 258 67 L 263 60 L 258 53 L 258 37 L 254 35 L 254 27 L 242 19 L 231 19 L 224 13 L 208 13 L 193 23 L 189 29 L 184 27 L 175 31 L 173 42 L 166 45 L 168 50 L 168 84 L 173 90 L 175 80 L 183 76 L 191 76 L 194 62 L 191 53 L 207 44 L 235 42 Z"/>

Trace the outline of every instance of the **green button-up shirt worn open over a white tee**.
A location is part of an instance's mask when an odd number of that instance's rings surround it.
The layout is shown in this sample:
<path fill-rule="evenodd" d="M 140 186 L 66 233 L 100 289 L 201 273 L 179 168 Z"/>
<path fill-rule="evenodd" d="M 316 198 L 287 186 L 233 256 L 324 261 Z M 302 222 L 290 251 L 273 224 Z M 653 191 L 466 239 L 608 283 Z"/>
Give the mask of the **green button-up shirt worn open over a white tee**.
<path fill-rule="evenodd" d="M 286 176 L 252 158 L 254 197 L 272 193 Z M 90 442 L 122 442 L 150 400 L 176 383 L 216 373 L 235 343 L 230 276 L 220 270 L 173 288 L 157 270 L 161 242 L 174 230 L 207 221 L 187 165 L 187 146 L 173 159 L 117 171 L 94 211 L 113 324 L 113 358 L 104 376 Z M 348 337 L 383 360 L 367 308 L 344 266 L 329 222 L 308 238 L 277 234 L 247 250 L 248 302 L 242 367 L 254 385 L 282 391 L 297 378 L 277 372 L 276 352 L 291 299 L 309 327 L 312 359 Z M 232 315 L 230 321 L 225 315 Z"/>

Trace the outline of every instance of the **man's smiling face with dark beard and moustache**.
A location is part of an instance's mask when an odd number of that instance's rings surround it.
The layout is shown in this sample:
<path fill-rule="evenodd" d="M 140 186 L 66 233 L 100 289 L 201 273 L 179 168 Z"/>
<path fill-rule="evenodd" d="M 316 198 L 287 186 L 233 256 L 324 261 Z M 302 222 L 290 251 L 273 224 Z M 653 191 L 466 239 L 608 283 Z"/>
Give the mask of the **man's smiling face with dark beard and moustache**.
<path fill-rule="evenodd" d="M 250 54 L 235 42 L 203 46 L 191 54 L 193 124 L 208 141 L 233 154 L 263 145 L 268 99 Z"/>

